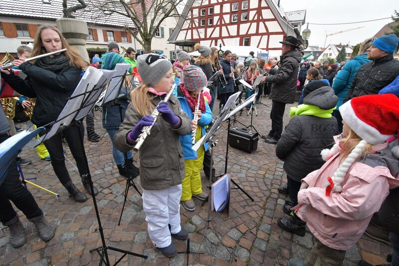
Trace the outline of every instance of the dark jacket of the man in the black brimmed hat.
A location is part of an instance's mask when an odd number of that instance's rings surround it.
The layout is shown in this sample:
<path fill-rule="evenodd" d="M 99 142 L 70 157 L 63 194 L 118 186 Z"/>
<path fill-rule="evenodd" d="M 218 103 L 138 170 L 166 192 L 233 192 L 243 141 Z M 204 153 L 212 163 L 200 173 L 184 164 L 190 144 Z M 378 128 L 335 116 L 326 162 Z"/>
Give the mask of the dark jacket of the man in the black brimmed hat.
<path fill-rule="evenodd" d="M 277 70 L 272 68 L 265 82 L 272 83 L 270 98 L 274 101 L 293 103 L 295 100 L 298 65 L 301 56 L 298 51 L 291 50 L 280 56 L 281 65 Z M 224 71 L 224 69 L 223 69 Z"/>

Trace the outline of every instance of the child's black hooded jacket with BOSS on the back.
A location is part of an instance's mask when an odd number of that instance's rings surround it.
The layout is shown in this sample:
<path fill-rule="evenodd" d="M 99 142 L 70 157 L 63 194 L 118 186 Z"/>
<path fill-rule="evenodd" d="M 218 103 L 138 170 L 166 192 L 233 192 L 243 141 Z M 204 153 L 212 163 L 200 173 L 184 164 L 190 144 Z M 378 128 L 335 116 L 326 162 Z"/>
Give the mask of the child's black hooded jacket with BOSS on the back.
<path fill-rule="evenodd" d="M 325 86 L 312 91 L 303 100 L 323 110 L 334 108 L 338 97 L 331 87 Z M 287 176 L 300 182 L 310 172 L 319 169 L 325 162 L 322 149 L 334 144 L 337 135 L 337 119 L 314 115 L 298 115 L 291 118 L 276 147 L 276 155 L 284 161 Z M 331 148 L 331 147 L 330 147 Z"/>

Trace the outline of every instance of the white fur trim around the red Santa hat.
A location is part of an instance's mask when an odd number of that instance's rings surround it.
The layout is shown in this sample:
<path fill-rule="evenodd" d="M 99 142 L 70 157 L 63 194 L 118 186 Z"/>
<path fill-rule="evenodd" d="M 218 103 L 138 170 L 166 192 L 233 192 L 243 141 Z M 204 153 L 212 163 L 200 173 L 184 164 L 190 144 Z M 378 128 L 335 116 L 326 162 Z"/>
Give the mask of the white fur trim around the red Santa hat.
<path fill-rule="evenodd" d="M 362 139 L 370 144 L 381 144 L 390 138 L 392 135 L 381 134 L 375 127 L 362 121 L 352 108 L 349 100 L 340 106 L 340 113 L 342 120 Z"/>

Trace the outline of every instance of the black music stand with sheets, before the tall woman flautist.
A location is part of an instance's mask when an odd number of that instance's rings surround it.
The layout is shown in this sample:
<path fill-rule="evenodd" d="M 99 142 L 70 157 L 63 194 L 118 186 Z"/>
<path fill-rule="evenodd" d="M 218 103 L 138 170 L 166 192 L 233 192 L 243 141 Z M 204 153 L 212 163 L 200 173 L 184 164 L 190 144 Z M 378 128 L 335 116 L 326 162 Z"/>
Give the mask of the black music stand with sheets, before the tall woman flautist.
<path fill-rule="evenodd" d="M 96 103 L 99 95 L 106 88 L 108 82 L 114 77 L 116 73 L 115 71 L 111 71 L 111 72 L 106 72 L 103 75 L 104 72 L 102 72 L 99 69 L 92 67 L 91 70 L 93 71 L 90 72 L 86 71 L 86 73 L 83 75 L 82 79 L 83 78 L 85 79 L 83 80 L 83 82 L 79 82 L 74 93 L 72 94 L 73 96 L 69 98 L 64 109 L 61 111 L 60 115 L 58 116 L 58 119 L 53 123 L 53 126 L 50 129 L 50 131 L 46 135 L 44 135 L 45 136 L 44 140 L 51 137 L 51 136 L 48 137 L 50 133 L 57 134 L 62 130 L 65 130 L 72 123 L 79 124 L 80 123 L 79 120 L 85 117 L 89 112 L 91 112 L 91 109 L 94 107 L 94 104 Z M 95 82 L 96 80 L 97 82 Z M 71 108 L 72 110 L 69 110 L 68 108 Z M 81 134 L 79 134 L 79 141 L 83 143 L 83 136 Z M 87 169 L 89 169 L 86 153 L 83 153 L 83 156 L 86 163 L 86 167 Z M 114 265 L 117 265 L 128 254 L 147 259 L 148 257 L 145 255 L 117 249 L 114 247 L 107 246 L 105 244 L 105 237 L 103 233 L 103 228 L 101 226 L 100 214 L 98 212 L 97 201 L 93 190 L 93 181 L 90 173 L 86 175 L 86 178 L 88 178 L 89 180 L 94 210 L 98 222 L 98 229 L 96 231 L 100 232 L 101 243 L 102 243 L 101 247 L 92 249 L 89 252 L 92 253 L 96 251 L 100 256 L 99 265 L 105 263 L 105 265 L 107 266 L 110 265 L 107 250 L 112 250 L 123 254 L 122 257 L 119 258 L 119 260 Z"/>

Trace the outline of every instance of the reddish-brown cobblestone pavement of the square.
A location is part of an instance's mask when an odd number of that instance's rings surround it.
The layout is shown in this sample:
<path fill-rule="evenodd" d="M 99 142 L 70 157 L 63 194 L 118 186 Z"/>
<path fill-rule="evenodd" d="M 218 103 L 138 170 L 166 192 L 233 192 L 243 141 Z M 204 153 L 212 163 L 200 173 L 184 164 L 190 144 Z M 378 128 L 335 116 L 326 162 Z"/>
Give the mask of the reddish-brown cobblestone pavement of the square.
<path fill-rule="evenodd" d="M 263 102 L 271 105 L 271 100 L 263 98 Z M 286 107 L 284 124 L 288 123 L 290 106 L 292 105 Z M 270 129 L 269 113 L 270 108 L 262 105 L 258 107 L 259 115 L 253 117 L 253 125 L 261 134 L 267 134 Z M 101 113 L 97 111 L 95 116 L 96 131 L 104 134 L 105 130 L 101 127 Z M 243 113 L 238 120 L 249 125 L 250 116 Z M 24 127 L 26 125 L 27 123 L 23 124 Z M 214 150 L 216 174 L 224 171 L 226 137 L 226 125 L 224 125 L 218 131 L 219 141 Z M 108 135 L 97 143 L 85 139 L 93 181 L 100 191 L 96 199 L 106 243 L 109 246 L 148 256 L 148 259 L 126 256 L 119 265 L 185 264 L 186 254 L 167 259 L 153 247 L 147 234 L 142 200 L 133 188 L 129 191 L 122 222 L 118 226 L 126 182 L 125 178 L 118 174 L 110 144 Z M 64 148 L 68 159 L 73 161 L 68 147 L 64 146 Z M 134 156 L 137 158 L 137 155 Z M 259 140 L 256 152 L 248 154 L 229 148 L 228 156 L 228 173 L 254 198 L 254 202 L 239 190 L 233 190 L 229 217 L 226 214 L 212 213 L 213 232 L 206 231 L 202 245 L 200 243 L 203 237 L 204 219 L 207 217 L 207 204 L 200 206 L 200 201 L 194 199 L 197 206 L 195 212 L 187 212 L 181 208 L 182 225 L 190 232 L 191 251 L 200 250 L 204 253 L 198 255 L 195 262 L 195 254 L 191 254 L 190 264 L 194 262 L 195 265 L 216 266 L 285 266 L 291 257 L 305 259 L 314 241 L 309 231 L 305 237 L 298 237 L 282 231 L 277 225 L 277 219 L 285 215 L 282 206 L 286 197 L 279 194 L 277 188 L 281 183 L 286 182 L 286 175 L 282 169 L 282 161 L 279 161 L 275 155 L 275 146 Z M 56 233 L 49 242 L 42 242 L 36 230 L 32 228 L 32 224 L 18 211 L 27 235 L 26 244 L 13 249 L 8 244 L 8 230 L 1 227 L 0 264 L 6 266 L 98 265 L 98 254 L 89 253 L 90 249 L 101 246 L 100 235 L 95 231 L 98 224 L 91 197 L 84 203 L 74 202 L 55 177 L 51 164 L 40 160 L 35 151 L 28 147 L 24 148 L 22 157 L 32 160 L 30 165 L 22 167 L 25 178 L 37 177 L 37 180 L 33 182 L 60 194 L 59 199 L 56 199 L 46 192 L 28 187 L 39 207 L 44 211 L 45 217 L 51 225 L 56 227 Z M 78 172 L 69 162 L 66 165 L 72 180 L 83 191 Z M 135 179 L 134 182 L 141 190 L 139 180 Z M 207 182 L 204 178 L 202 179 L 204 189 Z M 173 240 L 173 242 L 179 252 L 186 251 L 184 241 Z M 381 263 L 390 251 L 390 246 L 363 236 L 357 245 L 347 252 L 344 265 L 354 266 L 361 258 L 371 263 Z M 229 260 L 229 253 L 234 255 L 236 262 Z M 109 251 L 109 258 L 111 262 L 115 262 L 119 255 Z"/>

